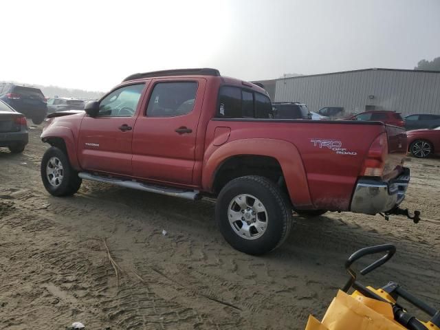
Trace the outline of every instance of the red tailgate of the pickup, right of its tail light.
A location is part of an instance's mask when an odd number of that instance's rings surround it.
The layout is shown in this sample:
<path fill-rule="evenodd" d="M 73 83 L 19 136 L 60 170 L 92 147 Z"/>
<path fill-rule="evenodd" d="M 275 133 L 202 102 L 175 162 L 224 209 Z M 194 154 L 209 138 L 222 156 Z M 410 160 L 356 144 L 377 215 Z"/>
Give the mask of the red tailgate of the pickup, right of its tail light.
<path fill-rule="evenodd" d="M 386 158 L 383 178 L 393 179 L 403 170 L 408 146 L 405 129 L 397 126 L 385 125 L 388 136 L 388 157 Z"/>

